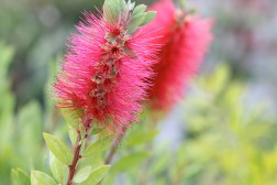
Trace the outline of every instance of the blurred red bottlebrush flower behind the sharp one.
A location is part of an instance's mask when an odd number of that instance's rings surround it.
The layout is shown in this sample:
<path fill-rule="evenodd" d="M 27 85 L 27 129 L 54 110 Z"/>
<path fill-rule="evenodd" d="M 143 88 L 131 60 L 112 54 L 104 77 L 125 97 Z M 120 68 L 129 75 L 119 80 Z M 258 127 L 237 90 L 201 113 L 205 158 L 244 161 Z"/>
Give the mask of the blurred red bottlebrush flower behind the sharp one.
<path fill-rule="evenodd" d="M 181 12 L 171 0 L 162 0 L 152 10 L 157 15 L 149 26 L 160 28 L 155 34 L 164 36 L 155 42 L 164 46 L 159 63 L 153 67 L 156 76 L 149 104 L 153 109 L 168 110 L 184 96 L 187 83 L 199 68 L 212 39 L 211 20 Z"/>

